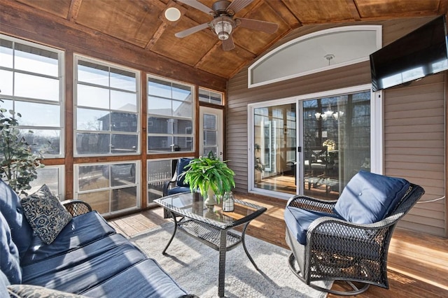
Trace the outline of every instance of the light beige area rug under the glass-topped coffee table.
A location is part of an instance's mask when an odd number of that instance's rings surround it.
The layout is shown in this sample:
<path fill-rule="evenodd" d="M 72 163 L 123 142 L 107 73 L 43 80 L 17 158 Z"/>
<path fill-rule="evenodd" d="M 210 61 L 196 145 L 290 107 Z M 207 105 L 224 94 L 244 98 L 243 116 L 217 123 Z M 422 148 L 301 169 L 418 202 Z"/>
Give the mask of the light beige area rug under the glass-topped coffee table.
<path fill-rule="evenodd" d="M 190 294 L 218 297 L 218 251 L 178 231 L 167 255 L 162 255 L 173 230 L 174 223 L 167 222 L 132 236 L 131 241 L 157 260 Z M 288 250 L 248 235 L 246 247 L 262 272 L 253 267 L 242 245 L 230 250 L 225 259 L 225 297 L 326 297 L 326 293 L 305 285 L 290 271 Z M 330 282 L 316 284 L 331 286 Z"/>

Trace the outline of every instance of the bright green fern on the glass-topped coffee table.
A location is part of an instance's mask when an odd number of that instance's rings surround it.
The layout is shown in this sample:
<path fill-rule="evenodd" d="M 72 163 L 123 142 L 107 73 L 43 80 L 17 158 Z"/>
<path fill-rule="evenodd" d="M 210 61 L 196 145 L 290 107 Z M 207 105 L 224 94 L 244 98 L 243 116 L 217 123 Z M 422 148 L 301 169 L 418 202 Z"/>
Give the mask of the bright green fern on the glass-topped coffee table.
<path fill-rule="evenodd" d="M 193 159 L 186 166 L 187 171 L 183 172 L 185 183 L 190 185 L 192 192 L 200 191 L 206 205 L 214 204 L 210 190 L 216 194 L 219 203 L 219 198 L 235 187 L 235 172 L 228 167 L 227 162 L 221 161 L 210 151 L 207 157 Z"/>

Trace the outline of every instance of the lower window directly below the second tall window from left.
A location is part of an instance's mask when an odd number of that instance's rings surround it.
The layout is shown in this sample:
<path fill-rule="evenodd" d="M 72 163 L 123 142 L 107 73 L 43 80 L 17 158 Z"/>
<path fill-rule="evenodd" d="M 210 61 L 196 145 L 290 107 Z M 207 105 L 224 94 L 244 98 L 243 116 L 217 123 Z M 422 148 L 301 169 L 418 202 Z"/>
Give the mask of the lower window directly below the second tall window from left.
<path fill-rule="evenodd" d="M 140 162 L 76 164 L 76 197 L 102 215 L 140 207 Z"/>

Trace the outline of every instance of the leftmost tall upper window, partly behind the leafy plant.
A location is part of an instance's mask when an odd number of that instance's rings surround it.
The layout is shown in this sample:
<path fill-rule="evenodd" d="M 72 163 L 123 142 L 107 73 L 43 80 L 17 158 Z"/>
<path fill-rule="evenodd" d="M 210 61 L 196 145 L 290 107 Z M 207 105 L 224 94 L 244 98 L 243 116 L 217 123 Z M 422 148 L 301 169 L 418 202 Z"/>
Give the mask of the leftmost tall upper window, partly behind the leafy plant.
<path fill-rule="evenodd" d="M 61 50 L 0 35 L 0 106 L 22 115 L 22 136 L 45 157 L 64 154 L 63 65 Z"/>

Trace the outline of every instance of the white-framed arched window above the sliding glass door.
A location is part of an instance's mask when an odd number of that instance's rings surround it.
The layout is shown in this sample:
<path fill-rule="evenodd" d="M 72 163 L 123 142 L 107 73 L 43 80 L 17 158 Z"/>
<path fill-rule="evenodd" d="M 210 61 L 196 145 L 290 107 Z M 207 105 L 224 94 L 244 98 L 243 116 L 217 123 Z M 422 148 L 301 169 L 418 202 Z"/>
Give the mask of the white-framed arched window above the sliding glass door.
<path fill-rule="evenodd" d="M 337 27 L 300 36 L 252 64 L 248 69 L 248 87 L 367 61 L 379 48 L 379 25 Z"/>

